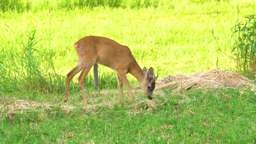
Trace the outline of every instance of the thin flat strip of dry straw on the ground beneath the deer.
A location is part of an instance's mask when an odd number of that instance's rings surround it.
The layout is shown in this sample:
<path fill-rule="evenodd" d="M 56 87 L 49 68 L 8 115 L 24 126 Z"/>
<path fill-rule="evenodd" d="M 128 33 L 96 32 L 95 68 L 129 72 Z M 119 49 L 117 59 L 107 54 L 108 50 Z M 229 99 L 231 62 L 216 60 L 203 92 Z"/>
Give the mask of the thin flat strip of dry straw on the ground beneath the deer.
<path fill-rule="evenodd" d="M 79 105 L 79 108 L 77 107 Z M 40 118 L 46 118 L 45 110 L 50 110 L 50 113 L 54 114 L 56 112 L 56 108 L 61 108 L 61 112 L 65 115 L 71 114 L 72 110 L 75 111 L 83 111 L 83 113 L 94 113 L 97 111 L 98 107 L 106 107 L 109 110 L 112 110 L 114 107 L 113 101 L 103 101 L 100 104 L 88 104 L 85 105 L 83 101 L 81 104 L 69 105 L 67 103 L 61 102 L 59 104 L 51 104 L 51 103 L 38 103 L 36 101 L 31 100 L 18 100 L 18 99 L 10 99 L 10 98 L 1 98 L 0 97 L 0 121 L 2 121 L 3 116 L 8 116 L 9 118 L 13 117 L 16 113 L 27 113 L 27 112 L 40 112 Z M 161 101 L 156 100 L 148 100 L 142 99 L 137 100 L 136 103 L 127 103 L 125 107 L 129 107 L 131 110 L 127 111 L 133 115 L 134 113 L 139 112 L 141 109 L 146 109 L 147 111 L 152 111 L 157 109 L 157 107 L 163 105 Z M 39 107 L 39 109 L 38 109 Z M 58 109 L 59 112 L 59 109 Z"/>

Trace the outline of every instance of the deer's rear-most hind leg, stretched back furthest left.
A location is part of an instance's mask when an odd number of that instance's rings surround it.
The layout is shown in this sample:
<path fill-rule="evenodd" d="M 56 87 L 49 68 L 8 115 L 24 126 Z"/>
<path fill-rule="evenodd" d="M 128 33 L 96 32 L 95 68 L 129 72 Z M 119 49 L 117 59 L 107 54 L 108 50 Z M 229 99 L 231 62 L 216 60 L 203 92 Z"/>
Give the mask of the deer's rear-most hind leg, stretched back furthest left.
<path fill-rule="evenodd" d="M 78 62 L 78 64 L 67 74 L 66 93 L 65 93 L 65 97 L 64 97 L 65 102 L 67 102 L 67 100 L 68 100 L 68 91 L 69 91 L 69 85 L 70 85 L 71 80 L 82 69 L 83 69 L 83 62 Z"/>

